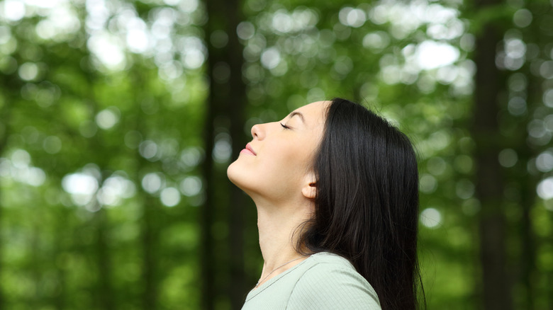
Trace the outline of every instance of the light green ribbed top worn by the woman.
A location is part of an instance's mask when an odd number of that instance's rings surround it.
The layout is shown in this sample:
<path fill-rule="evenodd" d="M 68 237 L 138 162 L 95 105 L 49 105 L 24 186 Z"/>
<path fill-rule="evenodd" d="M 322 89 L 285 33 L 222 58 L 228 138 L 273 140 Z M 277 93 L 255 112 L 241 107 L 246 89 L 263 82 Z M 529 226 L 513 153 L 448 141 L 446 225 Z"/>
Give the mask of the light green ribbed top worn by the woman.
<path fill-rule="evenodd" d="M 345 258 L 316 253 L 252 289 L 242 310 L 380 310 L 369 285 Z"/>

